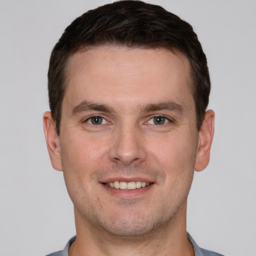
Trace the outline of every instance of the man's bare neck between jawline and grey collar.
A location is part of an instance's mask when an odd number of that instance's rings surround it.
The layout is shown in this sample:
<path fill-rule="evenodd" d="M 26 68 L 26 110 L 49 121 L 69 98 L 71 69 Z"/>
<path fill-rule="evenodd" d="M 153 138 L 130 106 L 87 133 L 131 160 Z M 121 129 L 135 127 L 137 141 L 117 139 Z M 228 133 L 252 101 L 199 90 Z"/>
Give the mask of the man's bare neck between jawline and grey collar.
<path fill-rule="evenodd" d="M 151 256 L 194 255 L 186 235 L 186 202 L 167 223 L 139 236 L 117 236 L 93 224 L 75 209 L 76 239 L 69 256 Z"/>

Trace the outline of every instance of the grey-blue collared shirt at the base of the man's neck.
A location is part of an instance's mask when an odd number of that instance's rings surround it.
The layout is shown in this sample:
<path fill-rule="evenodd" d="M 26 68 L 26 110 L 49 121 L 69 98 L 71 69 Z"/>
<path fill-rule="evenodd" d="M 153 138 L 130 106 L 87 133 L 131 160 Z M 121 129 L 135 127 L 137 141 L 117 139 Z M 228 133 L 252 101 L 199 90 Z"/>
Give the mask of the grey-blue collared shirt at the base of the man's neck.
<path fill-rule="evenodd" d="M 210 250 L 205 250 L 200 248 L 195 241 L 192 239 L 192 237 L 187 233 L 187 238 L 191 242 L 194 248 L 194 256 L 223 256 L 222 254 L 210 251 Z M 53 253 L 50 253 L 46 256 L 68 256 L 68 248 L 71 245 L 71 243 L 75 240 L 75 236 L 73 236 L 66 244 L 63 250 L 59 250 Z"/>

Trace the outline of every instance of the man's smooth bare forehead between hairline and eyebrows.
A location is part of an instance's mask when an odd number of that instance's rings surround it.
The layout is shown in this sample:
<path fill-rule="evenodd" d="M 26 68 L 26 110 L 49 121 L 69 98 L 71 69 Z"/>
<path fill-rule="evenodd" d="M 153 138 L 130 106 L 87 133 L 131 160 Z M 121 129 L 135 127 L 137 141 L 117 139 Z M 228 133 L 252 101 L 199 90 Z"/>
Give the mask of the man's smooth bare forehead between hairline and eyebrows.
<path fill-rule="evenodd" d="M 185 101 L 192 96 L 188 59 L 163 48 L 92 47 L 73 54 L 66 71 L 64 98 L 76 97 L 77 101 L 84 100 L 84 96 L 92 100 L 95 94 L 101 101 L 125 97 L 139 98 L 141 103 L 157 102 L 161 97 L 169 100 L 169 96 Z"/>

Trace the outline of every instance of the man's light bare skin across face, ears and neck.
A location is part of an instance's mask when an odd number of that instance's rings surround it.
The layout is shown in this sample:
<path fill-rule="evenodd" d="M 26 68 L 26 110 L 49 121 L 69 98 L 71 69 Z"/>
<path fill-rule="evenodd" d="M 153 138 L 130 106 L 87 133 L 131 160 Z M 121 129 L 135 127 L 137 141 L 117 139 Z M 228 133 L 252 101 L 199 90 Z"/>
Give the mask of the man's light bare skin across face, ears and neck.
<path fill-rule="evenodd" d="M 70 57 L 67 83 L 60 136 L 50 112 L 43 121 L 52 166 L 63 171 L 74 204 L 69 255 L 194 255 L 186 198 L 194 170 L 209 161 L 214 112 L 198 132 L 187 58 L 161 48 L 92 47 Z M 115 180 L 150 185 L 104 184 Z"/>

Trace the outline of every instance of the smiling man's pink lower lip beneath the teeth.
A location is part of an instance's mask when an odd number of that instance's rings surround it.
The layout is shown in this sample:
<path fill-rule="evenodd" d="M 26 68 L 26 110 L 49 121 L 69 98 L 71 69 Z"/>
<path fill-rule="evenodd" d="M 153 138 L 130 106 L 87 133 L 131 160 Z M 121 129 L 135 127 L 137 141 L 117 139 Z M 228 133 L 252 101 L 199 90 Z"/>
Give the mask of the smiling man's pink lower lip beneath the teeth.
<path fill-rule="evenodd" d="M 142 196 L 145 192 L 147 192 L 149 189 L 151 189 L 154 185 L 154 183 L 145 186 L 145 187 L 140 187 L 140 188 L 135 188 L 135 189 L 120 189 L 120 188 L 114 188 L 110 186 L 106 186 L 105 184 L 102 184 L 103 188 L 105 188 L 108 192 L 113 194 L 116 197 L 119 198 L 136 198 Z"/>

